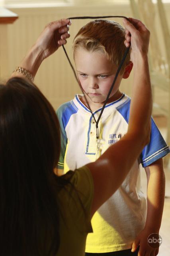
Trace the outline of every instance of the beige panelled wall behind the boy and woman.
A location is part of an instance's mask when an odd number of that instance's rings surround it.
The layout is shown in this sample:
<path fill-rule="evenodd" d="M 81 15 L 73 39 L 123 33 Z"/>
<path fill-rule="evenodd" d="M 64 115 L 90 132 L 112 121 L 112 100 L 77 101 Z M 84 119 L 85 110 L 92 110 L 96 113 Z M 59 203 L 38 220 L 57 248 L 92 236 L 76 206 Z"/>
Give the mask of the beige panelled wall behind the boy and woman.
<path fill-rule="evenodd" d="M 166 12 L 167 18 L 169 19 L 170 5 L 167 6 Z M 3 50 L 3 54 L 1 54 L 1 79 L 8 78 L 12 70 L 20 63 L 27 49 L 35 42 L 45 24 L 52 20 L 70 16 L 132 15 L 129 5 L 118 4 L 91 7 L 20 8 L 12 9 L 12 11 L 19 15 L 19 19 L 14 24 L 7 26 L 6 38 L 1 37 L 0 48 L 1 50 L 2 48 L 5 49 Z M 121 23 L 121 19 L 117 19 L 117 21 Z M 71 60 L 72 39 L 78 29 L 87 22 L 88 20 L 72 20 L 72 26 L 70 27 L 71 36 L 66 45 L 66 50 Z M 10 56 L 8 60 L 7 56 Z M 2 65 L 7 61 L 7 71 L 2 71 Z M 121 84 L 121 90 L 130 95 L 132 78 L 133 76 L 131 75 L 129 79 L 123 80 Z M 47 96 L 54 108 L 57 108 L 61 103 L 70 100 L 76 93 L 80 92 L 62 48 L 45 60 L 37 73 L 35 83 L 45 96 Z M 162 94 L 162 92 L 156 92 L 156 98 L 158 101 L 164 99 L 163 104 L 166 104 L 168 101 L 167 95 Z"/>

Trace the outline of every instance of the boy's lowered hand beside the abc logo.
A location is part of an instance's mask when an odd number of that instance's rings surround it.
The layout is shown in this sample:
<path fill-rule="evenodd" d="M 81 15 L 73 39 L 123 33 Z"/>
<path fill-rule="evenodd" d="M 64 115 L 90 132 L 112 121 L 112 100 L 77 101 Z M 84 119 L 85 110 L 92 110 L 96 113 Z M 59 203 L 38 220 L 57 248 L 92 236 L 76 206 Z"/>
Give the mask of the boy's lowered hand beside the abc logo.
<path fill-rule="evenodd" d="M 159 252 L 159 248 L 152 248 L 148 244 L 148 236 L 152 233 L 157 233 L 158 232 L 153 232 L 151 230 L 148 230 L 144 228 L 141 233 L 137 236 L 135 241 L 132 244 L 132 252 L 135 252 L 139 246 L 139 252 L 138 256 L 156 256 Z"/>

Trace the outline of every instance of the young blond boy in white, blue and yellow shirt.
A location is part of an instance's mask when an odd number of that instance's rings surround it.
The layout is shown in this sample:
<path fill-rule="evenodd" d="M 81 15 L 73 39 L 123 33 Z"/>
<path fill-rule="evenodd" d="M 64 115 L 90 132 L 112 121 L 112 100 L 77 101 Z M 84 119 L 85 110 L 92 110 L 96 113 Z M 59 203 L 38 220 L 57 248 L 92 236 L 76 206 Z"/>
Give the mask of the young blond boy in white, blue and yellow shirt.
<path fill-rule="evenodd" d="M 127 40 L 129 36 L 127 34 Z M 74 38 L 77 76 L 96 120 L 125 52 L 124 40 L 123 27 L 109 20 L 89 22 Z M 98 139 L 96 123 L 83 94 L 59 107 L 62 149 L 58 169 L 64 169 L 65 173 L 94 162 L 127 132 L 130 98 L 119 90 L 119 86 L 122 78 L 129 77 L 132 67 L 129 53 L 100 118 Z M 121 187 L 92 218 L 93 233 L 88 234 L 86 255 L 158 254 L 158 248 L 151 248 L 147 238 L 160 229 L 165 187 L 162 157 L 168 152 L 170 149 L 152 120 L 150 143 Z M 140 163 L 147 174 L 147 202 L 141 190 Z"/>

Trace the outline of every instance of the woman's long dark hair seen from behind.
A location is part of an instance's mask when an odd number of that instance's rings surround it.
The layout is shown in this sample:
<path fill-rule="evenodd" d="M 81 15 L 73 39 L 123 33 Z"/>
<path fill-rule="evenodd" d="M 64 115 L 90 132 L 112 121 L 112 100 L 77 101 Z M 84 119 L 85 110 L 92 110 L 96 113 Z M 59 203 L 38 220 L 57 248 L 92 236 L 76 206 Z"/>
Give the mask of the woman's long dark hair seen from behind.
<path fill-rule="evenodd" d="M 0 86 L 0 255 L 54 255 L 59 211 L 53 173 L 60 131 L 51 104 L 31 82 Z"/>

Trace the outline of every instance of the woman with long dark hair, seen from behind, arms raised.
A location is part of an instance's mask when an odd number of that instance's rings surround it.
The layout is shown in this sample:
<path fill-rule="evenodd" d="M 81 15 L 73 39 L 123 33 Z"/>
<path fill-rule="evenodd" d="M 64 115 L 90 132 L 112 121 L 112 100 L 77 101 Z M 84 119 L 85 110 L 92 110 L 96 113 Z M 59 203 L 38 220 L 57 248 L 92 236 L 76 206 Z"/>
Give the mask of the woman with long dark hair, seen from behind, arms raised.
<path fill-rule="evenodd" d="M 149 31 L 131 19 L 125 21 L 125 45 L 131 41 L 134 62 L 128 132 L 96 162 L 60 177 L 54 174 L 60 154 L 59 122 L 45 96 L 23 78 L 32 79 L 41 62 L 66 43 L 68 24 L 69 20 L 60 20 L 46 26 L 21 62 L 22 69 L 0 86 L 2 256 L 84 255 L 94 212 L 121 185 L 149 142 Z"/>

